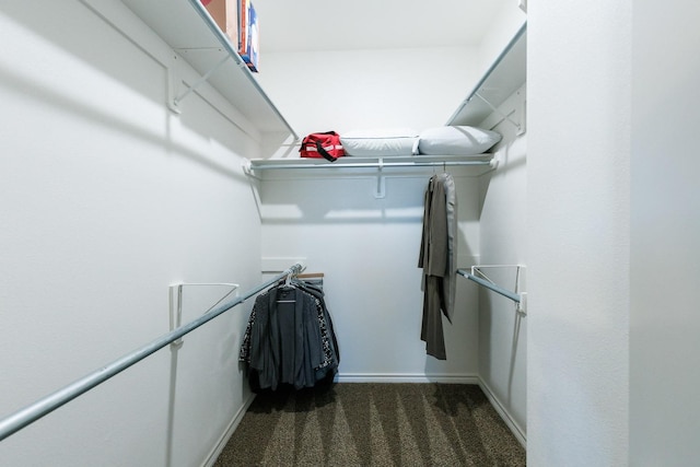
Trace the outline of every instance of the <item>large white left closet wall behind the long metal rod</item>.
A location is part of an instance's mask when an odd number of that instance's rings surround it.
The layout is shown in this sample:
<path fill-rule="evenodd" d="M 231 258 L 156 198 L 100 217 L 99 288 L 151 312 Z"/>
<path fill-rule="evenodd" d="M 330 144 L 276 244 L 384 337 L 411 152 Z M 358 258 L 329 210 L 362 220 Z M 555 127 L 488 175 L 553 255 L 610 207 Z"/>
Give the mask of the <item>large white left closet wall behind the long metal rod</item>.
<path fill-rule="evenodd" d="M 100 4 L 108 21 L 72 1 L 0 7 L 0 417 L 168 331 L 168 284 L 260 278 L 241 173 L 260 136 L 196 95 L 171 114 L 170 49 Z M 209 295 L 187 290 L 186 318 Z M 4 440 L 0 464 L 201 464 L 248 398 L 246 311 Z"/>

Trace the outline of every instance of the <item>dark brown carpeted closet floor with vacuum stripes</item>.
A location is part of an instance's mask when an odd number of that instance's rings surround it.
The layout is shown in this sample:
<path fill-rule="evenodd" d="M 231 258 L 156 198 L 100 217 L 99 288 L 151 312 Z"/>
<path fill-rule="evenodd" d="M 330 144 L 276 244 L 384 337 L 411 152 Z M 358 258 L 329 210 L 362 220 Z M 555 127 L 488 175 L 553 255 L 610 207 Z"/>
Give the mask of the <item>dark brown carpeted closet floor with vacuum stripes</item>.
<path fill-rule="evenodd" d="M 259 394 L 214 467 L 524 465 L 476 385 L 342 383 Z"/>

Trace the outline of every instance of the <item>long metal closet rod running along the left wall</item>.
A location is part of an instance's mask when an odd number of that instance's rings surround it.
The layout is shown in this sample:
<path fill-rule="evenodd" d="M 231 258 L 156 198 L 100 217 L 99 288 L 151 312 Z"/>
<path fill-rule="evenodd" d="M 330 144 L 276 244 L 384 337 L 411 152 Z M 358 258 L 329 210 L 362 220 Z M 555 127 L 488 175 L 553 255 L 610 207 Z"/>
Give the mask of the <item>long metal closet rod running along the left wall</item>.
<path fill-rule="evenodd" d="M 36 402 L 25 407 L 24 409 L 16 411 L 10 417 L 7 417 L 5 419 L 0 420 L 0 441 L 22 430 L 26 425 L 35 422 L 36 420 L 50 413 L 51 411 L 58 409 L 59 407 L 71 401 L 78 396 L 89 392 L 90 389 L 97 386 L 98 384 L 104 383 L 105 381 L 117 375 L 118 373 L 121 373 L 122 371 L 133 365 L 135 363 L 140 362 L 141 360 L 151 355 L 155 351 L 174 342 L 175 340 L 179 339 L 186 334 L 197 329 L 201 325 L 210 322 L 211 319 L 215 318 L 222 313 L 228 312 L 234 306 L 243 303 L 244 301 L 257 294 L 258 292 L 267 289 L 270 285 L 273 285 L 280 279 L 285 278 L 287 276 L 290 276 L 290 275 L 296 275 L 301 272 L 303 269 L 304 269 L 303 265 L 298 262 L 291 268 L 283 271 L 282 273 L 265 282 L 264 284 L 260 284 L 255 289 L 248 291 L 243 296 L 237 296 L 231 300 L 230 302 L 219 305 L 218 307 L 211 310 L 209 313 L 200 316 L 199 318 L 184 326 L 180 326 L 171 332 L 163 335 L 162 337 L 160 337 L 159 339 L 155 339 L 151 343 L 148 343 L 141 347 L 140 349 L 137 349 L 131 353 L 128 353 L 121 357 L 120 359 L 104 365 L 100 370 L 96 370 L 83 376 L 82 378 L 73 382 L 72 384 L 69 384 L 68 386 L 61 389 L 58 389 L 52 394 L 49 394 L 48 396 L 37 400 Z"/>

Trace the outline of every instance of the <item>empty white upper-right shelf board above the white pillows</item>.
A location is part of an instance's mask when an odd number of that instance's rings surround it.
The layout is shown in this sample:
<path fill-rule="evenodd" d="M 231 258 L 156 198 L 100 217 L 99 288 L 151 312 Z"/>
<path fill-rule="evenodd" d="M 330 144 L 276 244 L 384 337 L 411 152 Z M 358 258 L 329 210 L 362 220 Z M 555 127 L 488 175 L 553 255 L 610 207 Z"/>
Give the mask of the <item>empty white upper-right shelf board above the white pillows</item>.
<path fill-rule="evenodd" d="M 491 105 L 503 104 L 527 79 L 527 25 L 515 34 L 501 55 L 489 67 L 474 90 L 450 117 L 447 125 L 478 126 L 493 109 L 477 96 L 483 96 Z"/>

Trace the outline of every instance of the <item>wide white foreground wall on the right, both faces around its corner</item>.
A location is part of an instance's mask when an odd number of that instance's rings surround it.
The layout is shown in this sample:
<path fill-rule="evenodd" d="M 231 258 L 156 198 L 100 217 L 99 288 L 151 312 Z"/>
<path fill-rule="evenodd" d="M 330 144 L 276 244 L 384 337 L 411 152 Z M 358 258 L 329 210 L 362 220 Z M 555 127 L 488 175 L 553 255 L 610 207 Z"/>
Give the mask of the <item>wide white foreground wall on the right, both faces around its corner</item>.
<path fill-rule="evenodd" d="M 529 5 L 528 464 L 693 465 L 699 7 L 569 3 Z"/>

